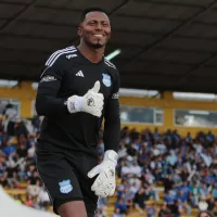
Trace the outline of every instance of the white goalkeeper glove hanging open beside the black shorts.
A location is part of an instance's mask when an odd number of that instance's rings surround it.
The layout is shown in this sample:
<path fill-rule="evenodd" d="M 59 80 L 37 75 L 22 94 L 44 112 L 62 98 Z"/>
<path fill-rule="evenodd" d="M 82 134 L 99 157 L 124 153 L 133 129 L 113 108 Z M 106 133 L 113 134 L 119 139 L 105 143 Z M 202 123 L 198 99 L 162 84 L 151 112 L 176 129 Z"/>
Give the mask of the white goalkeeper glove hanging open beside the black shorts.
<path fill-rule="evenodd" d="M 113 150 L 107 150 L 104 154 L 103 162 L 88 173 L 89 178 L 92 178 L 99 174 L 91 187 L 91 190 L 94 191 L 95 195 L 106 197 L 114 194 L 116 188 L 116 165 L 117 153 Z"/>

